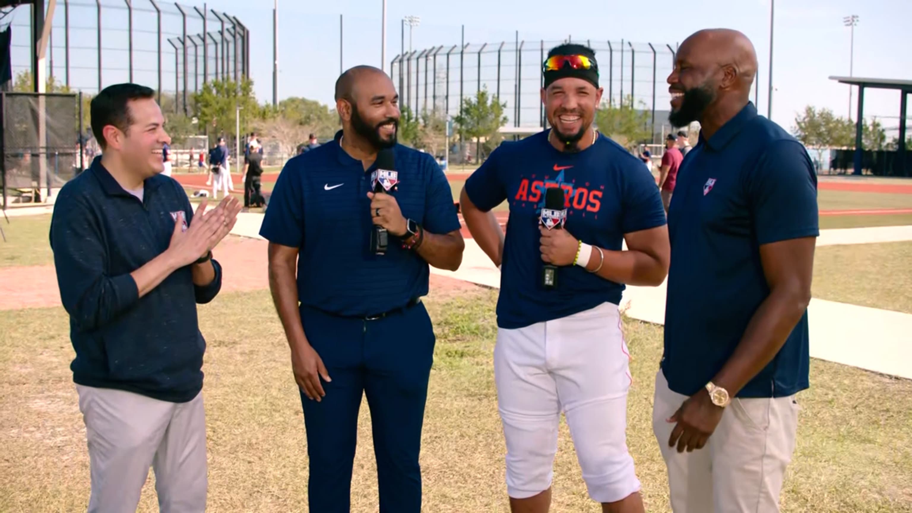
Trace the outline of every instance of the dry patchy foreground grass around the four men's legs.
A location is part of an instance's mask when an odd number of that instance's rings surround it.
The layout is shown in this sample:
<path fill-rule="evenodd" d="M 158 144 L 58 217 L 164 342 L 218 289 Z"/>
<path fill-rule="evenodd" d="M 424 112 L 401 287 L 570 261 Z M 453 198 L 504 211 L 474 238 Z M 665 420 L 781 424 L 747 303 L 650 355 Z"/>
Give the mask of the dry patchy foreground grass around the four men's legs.
<path fill-rule="evenodd" d="M 435 292 L 436 294 L 436 292 Z M 427 304 L 438 344 L 421 464 L 424 510 L 506 512 L 503 434 L 492 376 L 496 292 L 465 288 Z M 306 511 L 306 438 L 288 349 L 268 292 L 201 307 L 210 511 Z M 0 511 L 77 511 L 88 503 L 85 429 L 62 309 L 0 312 Z M 668 511 L 651 431 L 661 327 L 626 322 L 634 386 L 628 445 L 648 511 Z M 786 512 L 912 511 L 912 382 L 812 361 L 813 388 L 782 495 Z M 555 512 L 595 512 L 565 424 L 554 464 Z M 157 511 L 151 476 L 140 511 Z M 377 511 L 367 407 L 361 410 L 352 510 Z"/>

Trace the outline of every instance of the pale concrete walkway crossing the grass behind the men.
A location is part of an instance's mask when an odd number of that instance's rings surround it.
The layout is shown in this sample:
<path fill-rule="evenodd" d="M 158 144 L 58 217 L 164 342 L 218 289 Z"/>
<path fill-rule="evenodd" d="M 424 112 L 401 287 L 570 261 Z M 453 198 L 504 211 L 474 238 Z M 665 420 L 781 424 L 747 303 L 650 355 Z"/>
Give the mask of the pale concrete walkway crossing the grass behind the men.
<path fill-rule="evenodd" d="M 232 233 L 258 235 L 262 214 L 240 214 Z M 817 246 L 871 244 L 912 240 L 912 226 L 821 230 Z M 459 270 L 430 268 L 440 276 L 499 288 L 501 273 L 472 239 L 465 240 Z M 627 287 L 621 308 L 627 316 L 655 324 L 665 321 L 665 283 Z M 808 307 L 811 356 L 868 371 L 912 379 L 912 315 L 814 298 Z"/>

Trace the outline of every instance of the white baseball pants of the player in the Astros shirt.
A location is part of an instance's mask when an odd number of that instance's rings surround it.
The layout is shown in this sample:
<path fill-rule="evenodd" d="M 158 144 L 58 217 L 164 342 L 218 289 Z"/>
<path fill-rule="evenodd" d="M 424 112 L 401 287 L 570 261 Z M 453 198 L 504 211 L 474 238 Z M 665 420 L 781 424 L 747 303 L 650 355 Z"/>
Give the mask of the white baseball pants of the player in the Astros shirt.
<path fill-rule="evenodd" d="M 639 491 L 627 452 L 628 361 L 612 303 L 497 331 L 494 381 L 510 497 L 533 497 L 551 487 L 562 411 L 589 497 L 617 502 Z"/>

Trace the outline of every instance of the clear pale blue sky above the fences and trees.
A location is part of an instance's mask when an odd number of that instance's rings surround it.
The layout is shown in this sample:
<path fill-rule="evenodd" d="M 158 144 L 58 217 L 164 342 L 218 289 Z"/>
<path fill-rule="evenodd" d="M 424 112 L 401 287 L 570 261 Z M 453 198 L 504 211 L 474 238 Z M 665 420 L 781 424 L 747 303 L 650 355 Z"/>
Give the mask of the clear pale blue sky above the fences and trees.
<path fill-rule="evenodd" d="M 150 8 L 147 0 L 133 0 L 138 8 Z M 74 4 L 76 4 L 74 6 Z M 72 0 L 70 24 L 80 26 L 71 33 L 71 81 L 87 90 L 97 89 L 95 66 L 95 9 L 89 0 Z M 102 0 L 104 5 L 123 5 L 118 0 Z M 196 2 L 187 2 L 196 5 Z M 202 2 L 200 3 L 202 4 Z M 758 107 L 767 110 L 769 70 L 769 15 L 770 0 L 689 0 L 670 2 L 656 0 L 647 4 L 637 2 L 596 2 L 555 4 L 546 0 L 525 0 L 521 6 L 511 7 L 504 0 L 462 0 L 461 2 L 420 2 L 417 0 L 389 0 L 387 56 L 388 61 L 399 53 L 402 16 L 420 16 L 420 26 L 414 28 L 412 46 L 425 48 L 458 45 L 461 24 L 465 25 L 465 40 L 470 43 L 513 41 L 515 31 L 526 45 L 538 48 L 539 40 L 556 42 L 567 36 L 574 40 L 591 38 L 604 41 L 633 40 L 656 47 L 670 44 L 675 47 L 689 34 L 700 28 L 729 27 L 741 30 L 751 38 L 757 49 L 761 88 Z M 211 0 L 209 8 L 238 16 L 251 30 L 251 68 L 257 97 L 262 101 L 272 99 L 272 6 L 271 0 Z M 14 21 L 13 60 L 16 69 L 27 66 L 28 8 L 16 10 Z M 279 1 L 279 98 L 303 96 L 324 103 L 332 102 L 333 83 L 339 67 L 339 20 L 344 15 L 345 68 L 357 64 L 380 66 L 380 25 L 382 3 L 380 0 L 336 0 L 335 2 L 309 2 L 306 0 Z M 855 76 L 912 79 L 912 52 L 908 49 L 907 22 L 912 18 L 912 2 L 907 0 L 779 0 L 776 3 L 773 54 L 773 109 L 772 119 L 791 129 L 795 113 L 804 105 L 827 107 L 837 114 L 847 115 L 849 110 L 847 86 L 827 79 L 831 75 L 849 73 L 849 28 L 843 26 L 843 17 L 860 16 L 855 26 Z M 154 16 L 143 14 L 145 21 L 135 24 L 135 29 L 150 33 L 134 37 L 134 47 L 154 49 Z M 127 79 L 126 11 L 105 9 L 102 32 L 105 47 L 103 57 L 104 80 L 107 83 Z M 195 20 L 192 20 L 195 22 Z M 179 31 L 180 18 L 171 17 L 171 28 Z M 212 23 L 212 22 L 211 22 Z M 55 74 L 62 77 L 63 63 L 63 8 L 58 2 L 54 21 L 57 27 L 54 41 Z M 196 26 L 191 31 L 198 30 Z M 210 28 L 212 30 L 212 27 Z M 406 27 L 406 47 L 409 46 Z M 111 49 L 108 49 L 111 48 Z M 477 47 L 476 47 L 477 48 Z M 648 48 L 648 47 L 647 47 Z M 173 89 L 173 49 L 165 44 L 164 89 Z M 524 54 L 523 73 L 531 75 L 537 65 L 538 52 Z M 154 53 L 135 53 L 136 67 L 154 69 Z M 494 87 L 496 70 L 492 67 L 495 56 L 486 56 L 482 79 L 489 88 Z M 606 59 L 604 54 L 602 59 Z M 627 57 L 629 58 L 629 53 Z M 617 81 L 617 53 L 615 55 Z M 453 61 L 451 80 L 458 84 L 458 58 Z M 442 60 L 438 61 L 442 67 Z M 475 57 L 466 56 L 466 95 L 475 89 Z M 490 64 L 489 64 L 490 63 Z M 642 64 L 641 64 L 642 63 Z M 504 65 L 513 65 L 513 54 L 504 56 Z M 76 67 L 86 69 L 76 69 Z M 604 61 L 602 67 L 606 68 Z M 469 73 L 472 68 L 472 74 Z M 657 109 L 668 109 L 668 63 L 659 58 Z M 526 71 L 526 70 L 529 71 Z M 513 79 L 513 71 L 505 71 Z M 603 73 L 604 76 L 604 73 Z M 153 71 L 138 72 L 136 81 L 155 87 Z M 651 56 L 637 49 L 637 99 L 651 103 L 651 85 L 642 80 L 651 79 Z M 192 82 L 192 77 L 191 77 Z M 470 84 L 471 82 L 471 84 Z M 504 82 L 505 84 L 506 82 Z M 423 78 L 422 86 L 423 88 Z M 513 85 L 509 87 L 512 93 Z M 617 82 L 615 95 L 617 97 Z M 452 88 L 452 86 L 451 86 Z M 192 89 L 192 85 L 191 85 Z M 625 87 L 627 94 L 627 86 Z M 458 94 L 451 89 L 451 94 Z M 442 92 L 439 92 L 442 95 Z M 523 82 L 523 121 L 534 122 L 537 107 L 534 98 L 535 83 Z M 856 95 L 855 95 L 856 96 Z M 751 93 L 751 99 L 754 98 Z M 853 102 L 856 98 L 853 99 Z M 451 97 L 451 104 L 455 105 Z M 454 109 L 455 107 L 453 107 Z M 508 107 L 508 110 L 510 108 Z M 853 106 L 853 117 L 855 107 Z M 898 126 L 899 93 L 869 89 L 865 92 L 865 117 L 878 116 L 886 128 Z M 912 113 L 912 111 L 910 111 Z M 658 121 L 658 120 L 657 120 Z M 523 124 L 527 124 L 523 122 Z M 888 132 L 889 136 L 896 131 Z"/>

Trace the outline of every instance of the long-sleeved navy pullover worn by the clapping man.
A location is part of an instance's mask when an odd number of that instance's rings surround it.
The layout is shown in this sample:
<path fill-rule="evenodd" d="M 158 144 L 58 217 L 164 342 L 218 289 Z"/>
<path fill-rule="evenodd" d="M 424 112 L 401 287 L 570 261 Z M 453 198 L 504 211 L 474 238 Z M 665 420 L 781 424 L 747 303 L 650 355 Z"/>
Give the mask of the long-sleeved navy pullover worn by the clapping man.
<path fill-rule="evenodd" d="M 181 267 L 142 298 L 130 276 L 170 246 L 179 213 L 192 223 L 180 183 L 152 176 L 140 201 L 100 156 L 60 189 L 50 245 L 76 351 L 74 382 L 176 403 L 202 390 L 206 343 L 196 304 L 218 294 L 222 267 L 212 260 L 215 278 L 203 287 L 193 284 L 192 266 Z"/>

